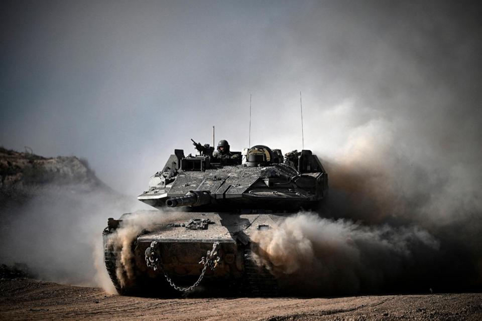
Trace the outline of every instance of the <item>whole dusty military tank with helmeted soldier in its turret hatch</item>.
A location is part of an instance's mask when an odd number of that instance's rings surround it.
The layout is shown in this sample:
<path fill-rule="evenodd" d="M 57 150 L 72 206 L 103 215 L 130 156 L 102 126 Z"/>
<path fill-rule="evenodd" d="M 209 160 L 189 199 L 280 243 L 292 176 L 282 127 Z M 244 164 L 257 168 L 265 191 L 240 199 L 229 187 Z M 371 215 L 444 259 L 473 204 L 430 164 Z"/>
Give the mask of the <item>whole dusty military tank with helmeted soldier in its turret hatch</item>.
<path fill-rule="evenodd" d="M 137 223 L 126 245 L 113 240 L 134 214 L 108 219 L 103 243 L 112 283 L 128 295 L 210 288 L 277 295 L 278 281 L 256 264 L 250 236 L 318 206 L 328 193 L 327 173 L 310 150 L 283 156 L 265 145 L 230 151 L 221 140 L 215 150 L 191 140 L 199 153 L 175 149 L 138 197 L 158 209 L 155 224 Z"/>

